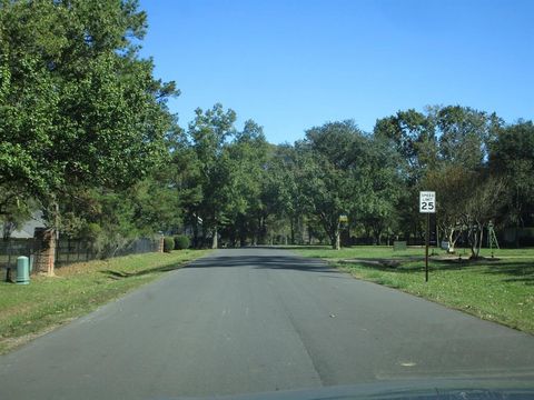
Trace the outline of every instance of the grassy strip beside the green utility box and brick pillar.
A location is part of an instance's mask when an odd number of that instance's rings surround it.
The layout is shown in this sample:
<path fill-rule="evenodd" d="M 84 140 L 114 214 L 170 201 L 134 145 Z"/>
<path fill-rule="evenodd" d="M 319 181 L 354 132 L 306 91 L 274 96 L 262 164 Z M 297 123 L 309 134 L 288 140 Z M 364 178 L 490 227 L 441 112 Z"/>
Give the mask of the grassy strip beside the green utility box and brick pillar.
<path fill-rule="evenodd" d="M 72 264 L 29 286 L 0 283 L 0 353 L 150 282 L 209 250 L 146 253 Z"/>

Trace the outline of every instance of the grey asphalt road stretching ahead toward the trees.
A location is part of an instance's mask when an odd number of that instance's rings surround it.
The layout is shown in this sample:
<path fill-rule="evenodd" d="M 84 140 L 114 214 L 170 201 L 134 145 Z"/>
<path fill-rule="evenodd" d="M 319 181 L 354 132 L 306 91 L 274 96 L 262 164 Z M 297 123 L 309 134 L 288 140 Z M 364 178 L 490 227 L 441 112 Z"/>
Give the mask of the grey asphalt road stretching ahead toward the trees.
<path fill-rule="evenodd" d="M 459 282 L 458 282 L 459 284 Z M 534 337 L 274 249 L 219 250 L 0 358 L 0 399 L 534 377 Z"/>

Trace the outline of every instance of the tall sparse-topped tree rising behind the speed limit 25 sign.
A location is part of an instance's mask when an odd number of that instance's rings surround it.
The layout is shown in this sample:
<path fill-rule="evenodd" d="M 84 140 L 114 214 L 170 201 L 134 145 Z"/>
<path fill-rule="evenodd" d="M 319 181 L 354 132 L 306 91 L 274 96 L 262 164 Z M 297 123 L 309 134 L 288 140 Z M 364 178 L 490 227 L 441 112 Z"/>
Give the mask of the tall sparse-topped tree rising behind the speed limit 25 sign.
<path fill-rule="evenodd" d="M 375 136 L 389 140 L 405 160 L 398 167 L 405 186 L 398 207 L 404 211 L 398 217 L 400 226 L 411 226 L 406 236 L 418 237 L 422 231 L 416 207 L 417 192 L 431 186 L 456 184 L 446 181 L 458 178 L 457 167 L 473 172 L 484 169 L 488 146 L 501 124 L 501 119 L 494 113 L 461 106 L 427 107 L 425 112 L 413 109 L 398 111 L 377 121 Z M 448 177 L 444 171 L 453 174 Z M 429 178 L 439 182 L 432 182 Z M 442 223 L 448 224 L 449 221 Z M 451 229 L 446 228 L 449 238 Z"/>

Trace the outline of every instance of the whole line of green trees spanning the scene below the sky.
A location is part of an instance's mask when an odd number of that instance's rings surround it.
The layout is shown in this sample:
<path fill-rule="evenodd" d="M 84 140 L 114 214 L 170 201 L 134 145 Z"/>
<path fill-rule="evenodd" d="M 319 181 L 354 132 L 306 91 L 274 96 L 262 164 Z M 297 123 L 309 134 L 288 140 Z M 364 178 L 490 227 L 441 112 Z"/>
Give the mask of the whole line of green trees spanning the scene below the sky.
<path fill-rule="evenodd" d="M 139 56 L 147 28 L 134 0 L 0 1 L 4 237 L 41 210 L 105 247 L 184 230 L 215 248 L 418 240 L 419 190 L 436 191 L 439 237 L 474 257 L 491 223 L 533 226 L 532 121 L 434 106 L 276 146 L 217 103 L 180 127 L 176 83 Z"/>

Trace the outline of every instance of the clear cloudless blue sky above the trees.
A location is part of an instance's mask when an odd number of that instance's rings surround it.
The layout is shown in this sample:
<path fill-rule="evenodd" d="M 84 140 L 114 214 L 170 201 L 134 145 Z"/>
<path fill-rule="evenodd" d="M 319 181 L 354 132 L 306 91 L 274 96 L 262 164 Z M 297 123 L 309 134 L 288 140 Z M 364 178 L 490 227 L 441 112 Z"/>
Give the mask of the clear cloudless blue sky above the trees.
<path fill-rule="evenodd" d="M 326 121 L 461 104 L 534 118 L 534 0 L 141 0 L 182 127 L 221 102 L 294 142 Z"/>

